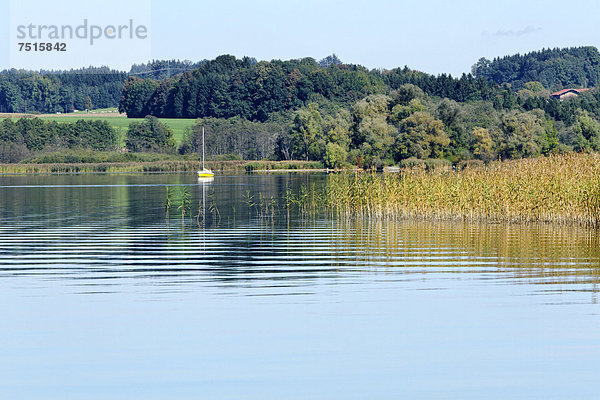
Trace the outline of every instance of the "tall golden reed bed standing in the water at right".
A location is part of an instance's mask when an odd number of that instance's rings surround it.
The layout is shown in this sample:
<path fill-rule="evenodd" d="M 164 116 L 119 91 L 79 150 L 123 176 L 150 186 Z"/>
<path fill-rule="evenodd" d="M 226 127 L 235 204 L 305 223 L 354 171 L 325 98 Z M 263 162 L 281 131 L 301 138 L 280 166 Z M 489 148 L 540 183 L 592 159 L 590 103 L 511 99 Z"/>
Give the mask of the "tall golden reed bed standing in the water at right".
<path fill-rule="evenodd" d="M 322 201 L 347 216 L 600 225 L 600 155 L 400 174 L 340 174 Z"/>

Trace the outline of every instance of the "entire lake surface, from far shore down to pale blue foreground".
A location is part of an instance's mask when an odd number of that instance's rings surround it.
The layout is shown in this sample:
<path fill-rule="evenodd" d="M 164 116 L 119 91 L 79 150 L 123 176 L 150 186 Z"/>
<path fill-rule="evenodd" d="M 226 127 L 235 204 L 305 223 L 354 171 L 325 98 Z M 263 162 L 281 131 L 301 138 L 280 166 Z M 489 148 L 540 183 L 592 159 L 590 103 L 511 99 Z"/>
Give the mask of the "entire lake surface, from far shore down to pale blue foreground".
<path fill-rule="evenodd" d="M 0 398 L 598 398 L 600 234 L 288 216 L 326 179 L 0 177 Z"/>

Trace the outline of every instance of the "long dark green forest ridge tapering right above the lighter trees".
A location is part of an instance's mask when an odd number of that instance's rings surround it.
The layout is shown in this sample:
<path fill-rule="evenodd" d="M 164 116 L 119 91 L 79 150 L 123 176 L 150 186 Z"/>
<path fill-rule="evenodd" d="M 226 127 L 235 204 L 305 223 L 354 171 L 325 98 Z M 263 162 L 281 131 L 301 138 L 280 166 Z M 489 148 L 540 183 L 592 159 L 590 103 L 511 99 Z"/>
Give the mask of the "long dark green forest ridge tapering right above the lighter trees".
<path fill-rule="evenodd" d="M 510 108 L 515 93 L 484 78 L 433 76 L 408 68 L 367 70 L 342 64 L 335 56 L 256 63 L 220 56 L 200 68 L 157 81 L 130 77 L 123 87 L 120 111 L 130 117 L 151 114 L 172 118 L 241 117 L 266 121 L 270 114 L 293 110 L 321 99 L 350 105 L 371 94 L 389 94 L 404 84 L 426 94 L 456 101 L 493 100 Z"/>

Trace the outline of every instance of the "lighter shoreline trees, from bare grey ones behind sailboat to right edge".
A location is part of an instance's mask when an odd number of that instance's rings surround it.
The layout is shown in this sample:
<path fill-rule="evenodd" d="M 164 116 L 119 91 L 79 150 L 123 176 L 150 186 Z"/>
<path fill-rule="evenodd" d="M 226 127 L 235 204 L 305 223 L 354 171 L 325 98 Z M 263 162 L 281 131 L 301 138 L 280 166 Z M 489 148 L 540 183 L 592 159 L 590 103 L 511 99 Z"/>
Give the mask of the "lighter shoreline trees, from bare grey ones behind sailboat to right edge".
<path fill-rule="evenodd" d="M 547 108 L 572 110 L 572 122 L 567 123 L 542 108 L 525 109 L 520 100 L 512 109 L 497 109 L 493 101 L 456 102 L 405 84 L 389 95 L 368 95 L 350 107 L 309 103 L 267 122 L 199 119 L 179 151 L 201 151 L 202 127 L 209 157 L 310 160 L 331 168 L 412 165 L 432 159 L 488 162 L 600 150 L 597 114 L 578 107 L 586 101 L 547 100 L 553 104 Z"/>

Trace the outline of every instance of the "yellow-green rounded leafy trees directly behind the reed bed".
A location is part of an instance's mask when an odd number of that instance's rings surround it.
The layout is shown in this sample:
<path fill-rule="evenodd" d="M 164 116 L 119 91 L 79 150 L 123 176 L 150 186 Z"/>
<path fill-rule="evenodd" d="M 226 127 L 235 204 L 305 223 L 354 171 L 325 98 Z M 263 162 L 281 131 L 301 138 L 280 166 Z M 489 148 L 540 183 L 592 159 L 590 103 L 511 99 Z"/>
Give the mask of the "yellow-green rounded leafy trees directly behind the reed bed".
<path fill-rule="evenodd" d="M 279 143 L 289 143 L 291 158 L 329 167 L 381 167 L 408 159 L 489 161 L 559 151 L 554 120 L 542 110 L 498 111 L 490 101 L 458 103 L 410 84 L 335 114 L 309 104 L 295 113 L 287 135 Z M 569 135 L 570 144 L 577 145 L 575 130 Z"/>

